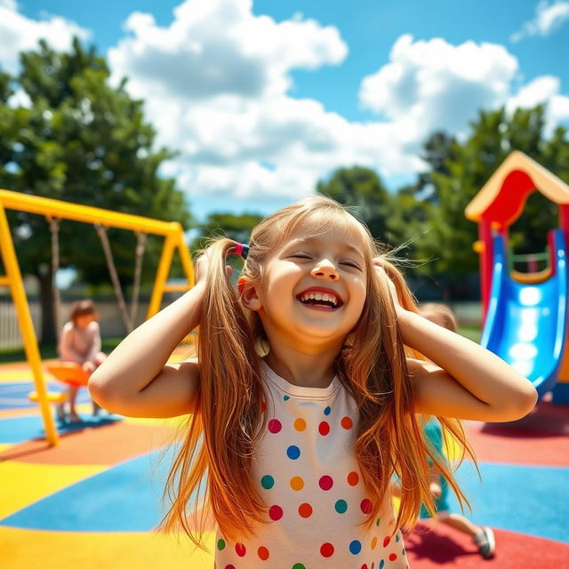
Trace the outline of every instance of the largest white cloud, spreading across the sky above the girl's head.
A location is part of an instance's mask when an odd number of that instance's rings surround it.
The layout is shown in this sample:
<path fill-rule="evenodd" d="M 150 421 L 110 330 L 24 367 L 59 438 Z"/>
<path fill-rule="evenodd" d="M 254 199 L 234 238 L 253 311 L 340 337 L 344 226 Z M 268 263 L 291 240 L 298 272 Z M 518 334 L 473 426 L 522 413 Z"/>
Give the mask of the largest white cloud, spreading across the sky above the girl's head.
<path fill-rule="evenodd" d="M 295 14 L 276 22 L 247 0 L 192 0 L 168 28 L 134 13 L 108 53 L 113 81 L 146 100 L 158 143 L 180 150 L 167 167 L 191 195 L 302 196 L 338 165 L 383 174 L 422 163 L 401 152 L 405 132 L 350 123 L 317 100 L 287 92 L 291 71 L 338 64 L 348 48 L 336 28 Z M 164 171 L 164 172 L 165 172 Z"/>

